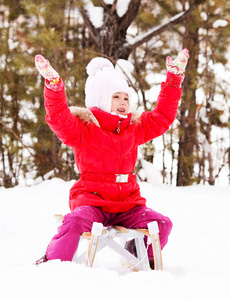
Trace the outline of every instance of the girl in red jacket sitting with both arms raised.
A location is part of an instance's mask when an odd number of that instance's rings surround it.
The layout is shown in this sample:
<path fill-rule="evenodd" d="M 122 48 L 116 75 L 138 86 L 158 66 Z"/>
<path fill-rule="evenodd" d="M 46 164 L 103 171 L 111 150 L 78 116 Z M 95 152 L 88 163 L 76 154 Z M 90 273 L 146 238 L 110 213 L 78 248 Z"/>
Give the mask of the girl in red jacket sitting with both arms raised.
<path fill-rule="evenodd" d="M 87 66 L 86 108 L 68 108 L 62 79 L 41 55 L 35 57 L 38 71 L 46 79 L 46 121 L 66 145 L 72 147 L 80 179 L 70 190 L 71 212 L 64 216 L 36 263 L 52 259 L 71 261 L 81 233 L 90 232 L 93 222 L 104 226 L 147 228 L 157 221 L 161 248 L 172 229 L 168 217 L 146 207 L 146 199 L 133 174 L 138 146 L 162 135 L 176 118 L 181 83 L 189 58 L 179 52 L 173 62 L 166 59 L 167 78 L 161 85 L 157 105 L 141 115 L 130 111 L 131 90 L 125 78 L 105 58 L 94 58 Z M 133 242 L 126 248 L 135 253 Z M 148 249 L 153 268 L 151 246 Z"/>

